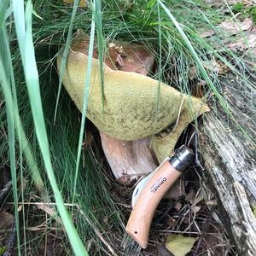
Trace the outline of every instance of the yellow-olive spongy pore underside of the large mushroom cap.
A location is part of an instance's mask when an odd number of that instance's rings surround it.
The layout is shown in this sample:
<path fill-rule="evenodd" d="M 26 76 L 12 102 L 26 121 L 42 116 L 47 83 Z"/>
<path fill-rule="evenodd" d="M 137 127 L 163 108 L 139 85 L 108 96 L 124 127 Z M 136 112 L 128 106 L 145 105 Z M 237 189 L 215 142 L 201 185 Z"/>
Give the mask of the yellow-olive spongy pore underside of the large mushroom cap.
<path fill-rule="evenodd" d="M 80 111 L 84 103 L 84 81 L 88 63 L 83 40 L 84 37 L 77 38 L 73 43 L 63 76 L 63 84 Z M 58 55 L 58 69 L 61 56 L 62 52 Z M 159 162 L 172 154 L 185 127 L 201 113 L 209 110 L 200 98 L 185 95 L 142 73 L 113 70 L 106 64 L 103 64 L 103 69 L 104 109 L 99 61 L 93 58 L 87 118 L 96 125 L 103 137 L 126 142 L 146 138 L 149 143 L 150 137 L 152 149 Z M 169 134 L 164 137 L 156 136 L 169 125 L 173 125 Z M 130 151 L 132 150 L 131 147 Z"/>

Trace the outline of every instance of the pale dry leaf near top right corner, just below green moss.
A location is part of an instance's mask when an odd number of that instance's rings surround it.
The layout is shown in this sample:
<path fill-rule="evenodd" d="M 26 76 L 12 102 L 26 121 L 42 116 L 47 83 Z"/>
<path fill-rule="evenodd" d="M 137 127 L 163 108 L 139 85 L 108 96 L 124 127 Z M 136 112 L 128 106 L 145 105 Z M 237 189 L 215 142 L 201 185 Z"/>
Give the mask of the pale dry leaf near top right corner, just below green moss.
<path fill-rule="evenodd" d="M 247 18 L 243 21 L 234 21 L 234 20 L 225 20 L 220 23 L 218 28 L 221 31 L 228 33 L 230 36 L 236 35 L 238 32 L 247 31 L 253 26 L 253 20 L 251 18 Z"/>

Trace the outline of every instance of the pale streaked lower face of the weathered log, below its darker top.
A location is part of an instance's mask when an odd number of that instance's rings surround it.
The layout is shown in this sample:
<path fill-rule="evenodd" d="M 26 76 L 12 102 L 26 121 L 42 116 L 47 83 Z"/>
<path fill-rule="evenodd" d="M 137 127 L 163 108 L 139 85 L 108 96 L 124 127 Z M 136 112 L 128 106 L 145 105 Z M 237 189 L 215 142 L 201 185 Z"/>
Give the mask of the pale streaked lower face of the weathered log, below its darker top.
<path fill-rule="evenodd" d="M 216 113 L 205 115 L 201 133 L 201 155 L 210 185 L 216 189 L 219 218 L 239 255 L 256 255 L 255 148 Z"/>

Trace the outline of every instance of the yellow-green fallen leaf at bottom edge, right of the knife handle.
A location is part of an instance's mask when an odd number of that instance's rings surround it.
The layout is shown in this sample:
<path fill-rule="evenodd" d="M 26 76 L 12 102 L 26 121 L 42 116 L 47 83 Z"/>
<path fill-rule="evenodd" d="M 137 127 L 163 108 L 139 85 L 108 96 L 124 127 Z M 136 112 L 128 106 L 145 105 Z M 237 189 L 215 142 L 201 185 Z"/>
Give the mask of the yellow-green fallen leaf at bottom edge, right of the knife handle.
<path fill-rule="evenodd" d="M 166 248 L 174 256 L 184 256 L 191 251 L 195 241 L 195 237 L 172 234 L 167 237 Z"/>

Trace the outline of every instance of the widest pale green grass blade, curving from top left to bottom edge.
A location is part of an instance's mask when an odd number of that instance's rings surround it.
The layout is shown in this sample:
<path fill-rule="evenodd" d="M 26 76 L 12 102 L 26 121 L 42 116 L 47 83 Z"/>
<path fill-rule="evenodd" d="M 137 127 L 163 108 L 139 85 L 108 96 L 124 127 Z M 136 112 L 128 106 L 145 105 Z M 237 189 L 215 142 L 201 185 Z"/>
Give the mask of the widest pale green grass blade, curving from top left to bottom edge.
<path fill-rule="evenodd" d="M 75 229 L 72 219 L 70 218 L 67 208 L 64 205 L 64 201 L 61 195 L 61 191 L 58 189 L 58 185 L 55 180 L 55 174 L 51 165 L 50 154 L 49 154 L 49 142 L 47 138 L 46 127 L 44 123 L 44 113 L 42 108 L 40 90 L 39 90 L 39 81 L 38 81 L 38 69 L 35 60 L 34 47 L 32 43 L 32 3 L 28 1 L 26 3 L 26 17 L 22 17 L 17 14 L 20 2 L 23 1 L 14 1 L 14 14 L 15 14 L 15 26 L 18 36 L 18 43 L 20 46 L 20 54 L 23 62 L 24 73 L 26 77 L 26 85 L 28 90 L 28 95 L 32 107 L 32 116 L 36 129 L 36 134 L 38 138 L 39 148 L 41 149 L 41 154 L 44 159 L 44 165 L 49 177 L 49 183 L 53 189 L 55 195 L 55 202 L 60 213 L 61 219 L 63 221 L 64 227 L 67 231 L 67 236 L 73 247 L 73 252 L 76 255 L 88 255 L 81 241 L 78 231 Z M 15 4 L 17 3 L 17 6 Z M 25 27 L 26 21 L 26 31 L 22 31 L 22 27 Z M 24 32 L 18 32 L 20 31 Z M 21 44 L 20 38 L 24 38 L 25 41 Z"/>

